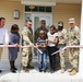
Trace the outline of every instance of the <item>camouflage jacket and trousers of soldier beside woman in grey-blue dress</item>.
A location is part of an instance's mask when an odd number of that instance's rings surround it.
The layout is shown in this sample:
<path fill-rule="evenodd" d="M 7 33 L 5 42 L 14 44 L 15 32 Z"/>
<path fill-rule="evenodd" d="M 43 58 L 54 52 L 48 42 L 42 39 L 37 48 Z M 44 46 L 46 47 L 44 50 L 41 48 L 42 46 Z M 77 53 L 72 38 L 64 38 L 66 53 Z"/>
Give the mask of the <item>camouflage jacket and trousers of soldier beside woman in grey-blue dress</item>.
<path fill-rule="evenodd" d="M 26 26 L 22 31 L 22 40 L 23 46 L 32 45 L 33 43 L 33 34 Z M 22 56 L 22 66 L 27 67 L 27 63 L 32 61 L 32 48 L 23 48 Z"/>

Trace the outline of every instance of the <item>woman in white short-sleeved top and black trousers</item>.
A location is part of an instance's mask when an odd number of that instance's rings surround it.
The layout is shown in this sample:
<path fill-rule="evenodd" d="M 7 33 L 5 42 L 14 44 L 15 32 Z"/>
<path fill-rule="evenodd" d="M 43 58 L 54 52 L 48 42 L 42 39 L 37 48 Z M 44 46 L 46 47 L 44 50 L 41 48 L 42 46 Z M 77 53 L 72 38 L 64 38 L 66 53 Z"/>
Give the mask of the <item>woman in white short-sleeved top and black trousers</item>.
<path fill-rule="evenodd" d="M 58 44 L 58 33 L 55 25 L 50 26 L 49 32 L 47 33 L 48 38 L 46 42 L 48 43 L 48 55 L 49 55 L 49 62 L 50 62 L 50 70 L 56 71 L 56 55 L 52 55 L 57 50 Z"/>

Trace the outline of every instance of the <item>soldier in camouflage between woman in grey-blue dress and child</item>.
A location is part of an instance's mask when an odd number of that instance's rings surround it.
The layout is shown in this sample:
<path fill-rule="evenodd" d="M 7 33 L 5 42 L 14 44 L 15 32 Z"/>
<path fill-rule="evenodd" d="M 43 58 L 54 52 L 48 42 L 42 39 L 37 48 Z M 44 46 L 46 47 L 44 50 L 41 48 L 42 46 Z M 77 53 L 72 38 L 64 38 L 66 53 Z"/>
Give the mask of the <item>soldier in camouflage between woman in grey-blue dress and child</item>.
<path fill-rule="evenodd" d="M 32 26 L 32 21 L 28 20 L 26 22 L 26 26 L 24 26 L 22 31 L 23 46 L 26 46 L 26 45 L 31 45 L 31 47 L 33 46 L 33 31 L 31 26 Z M 26 72 L 28 71 L 27 68 L 34 68 L 29 65 L 32 61 L 32 48 L 23 48 L 22 56 L 23 56 L 22 58 L 23 70 Z"/>

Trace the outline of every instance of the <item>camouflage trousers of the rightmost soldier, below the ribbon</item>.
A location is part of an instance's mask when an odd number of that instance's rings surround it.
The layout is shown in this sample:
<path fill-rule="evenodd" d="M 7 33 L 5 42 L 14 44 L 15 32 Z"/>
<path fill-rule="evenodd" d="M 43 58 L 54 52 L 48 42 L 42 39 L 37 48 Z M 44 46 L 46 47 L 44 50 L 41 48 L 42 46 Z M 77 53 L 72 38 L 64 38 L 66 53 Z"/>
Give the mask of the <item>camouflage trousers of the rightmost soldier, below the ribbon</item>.
<path fill-rule="evenodd" d="M 78 68 L 79 66 L 79 48 L 71 48 L 69 50 L 69 61 L 72 68 Z"/>

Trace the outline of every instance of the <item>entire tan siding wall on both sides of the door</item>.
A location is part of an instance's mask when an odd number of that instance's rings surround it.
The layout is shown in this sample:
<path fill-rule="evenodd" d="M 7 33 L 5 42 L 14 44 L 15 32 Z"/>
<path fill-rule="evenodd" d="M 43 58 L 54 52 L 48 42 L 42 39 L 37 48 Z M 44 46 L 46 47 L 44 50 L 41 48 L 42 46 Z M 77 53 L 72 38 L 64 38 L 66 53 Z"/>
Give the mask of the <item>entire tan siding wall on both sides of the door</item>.
<path fill-rule="evenodd" d="M 13 19 L 13 11 L 19 10 L 20 11 L 20 19 L 14 20 Z M 17 24 L 20 27 L 23 27 L 24 25 L 24 5 L 21 4 L 20 1 L 7 1 L 7 0 L 0 0 L 0 16 L 4 16 L 7 19 L 5 26 L 10 31 L 10 27 L 12 24 Z M 81 4 L 56 4 L 56 7 L 52 7 L 52 22 L 57 26 L 58 21 L 64 22 L 64 27 L 69 27 L 68 20 L 69 17 L 75 17 L 76 25 L 80 26 L 80 20 L 81 20 Z M 5 55 L 7 51 L 4 50 L 3 55 Z M 7 59 L 7 55 L 3 56 L 4 59 Z M 21 56 L 19 57 L 21 58 Z"/>

